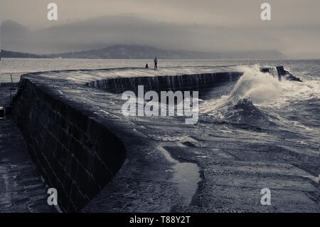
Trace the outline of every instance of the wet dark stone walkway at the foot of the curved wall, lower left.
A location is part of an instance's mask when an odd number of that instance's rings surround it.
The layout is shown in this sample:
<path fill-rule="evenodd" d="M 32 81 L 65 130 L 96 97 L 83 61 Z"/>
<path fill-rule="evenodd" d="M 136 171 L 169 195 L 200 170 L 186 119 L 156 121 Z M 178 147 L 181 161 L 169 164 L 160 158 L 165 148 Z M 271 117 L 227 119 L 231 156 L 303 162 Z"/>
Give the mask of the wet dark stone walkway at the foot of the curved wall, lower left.
<path fill-rule="evenodd" d="M 1 105 L 10 99 L 0 87 Z M 56 212 L 47 204 L 46 184 L 28 155 L 18 127 L 0 118 L 0 213 Z"/>

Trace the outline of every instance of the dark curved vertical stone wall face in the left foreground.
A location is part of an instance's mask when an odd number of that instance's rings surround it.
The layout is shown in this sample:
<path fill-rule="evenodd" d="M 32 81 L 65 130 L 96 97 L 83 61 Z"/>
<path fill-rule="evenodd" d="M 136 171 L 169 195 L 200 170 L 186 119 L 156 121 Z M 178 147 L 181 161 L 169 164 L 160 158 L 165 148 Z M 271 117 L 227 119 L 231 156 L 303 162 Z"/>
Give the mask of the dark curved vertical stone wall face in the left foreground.
<path fill-rule="evenodd" d="M 80 211 L 126 157 L 124 145 L 107 127 L 26 78 L 20 81 L 13 115 L 31 159 L 57 189 L 63 211 Z"/>

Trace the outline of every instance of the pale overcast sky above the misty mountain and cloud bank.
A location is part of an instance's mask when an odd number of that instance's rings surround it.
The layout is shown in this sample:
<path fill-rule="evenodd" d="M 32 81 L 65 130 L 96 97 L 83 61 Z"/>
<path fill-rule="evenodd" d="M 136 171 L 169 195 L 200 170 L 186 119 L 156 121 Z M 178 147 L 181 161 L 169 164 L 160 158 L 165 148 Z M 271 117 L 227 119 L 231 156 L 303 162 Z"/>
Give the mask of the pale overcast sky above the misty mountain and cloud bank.
<path fill-rule="evenodd" d="M 32 28 L 50 26 L 46 6 L 58 4 L 57 23 L 129 14 L 156 21 L 215 26 L 319 26 L 319 0 L 1 0 L 3 19 Z M 260 20 L 260 5 L 272 6 L 272 21 Z"/>

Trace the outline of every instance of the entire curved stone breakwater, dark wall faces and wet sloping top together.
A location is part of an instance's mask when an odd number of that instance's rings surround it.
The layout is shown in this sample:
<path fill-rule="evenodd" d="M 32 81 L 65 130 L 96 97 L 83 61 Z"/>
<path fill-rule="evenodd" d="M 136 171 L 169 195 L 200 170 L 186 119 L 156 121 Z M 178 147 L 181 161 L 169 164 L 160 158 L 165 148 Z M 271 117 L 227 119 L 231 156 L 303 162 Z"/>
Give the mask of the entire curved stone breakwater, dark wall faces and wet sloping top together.
<path fill-rule="evenodd" d="M 305 171 L 316 166 L 312 147 L 310 155 L 300 154 L 287 147 L 305 144 L 288 139 L 277 146 L 273 135 L 270 143 L 259 142 L 260 131 L 253 130 L 239 137 L 206 115 L 186 125 L 183 117 L 122 114 L 120 94 L 138 85 L 200 93 L 241 75 L 225 67 L 29 73 L 21 78 L 12 113 L 66 212 L 318 211 L 311 198 L 317 176 Z M 201 169 L 194 194 L 184 179 L 198 176 L 198 169 L 186 175 L 177 168 L 188 163 Z M 273 206 L 261 206 L 257 195 L 265 187 L 277 198 Z"/>

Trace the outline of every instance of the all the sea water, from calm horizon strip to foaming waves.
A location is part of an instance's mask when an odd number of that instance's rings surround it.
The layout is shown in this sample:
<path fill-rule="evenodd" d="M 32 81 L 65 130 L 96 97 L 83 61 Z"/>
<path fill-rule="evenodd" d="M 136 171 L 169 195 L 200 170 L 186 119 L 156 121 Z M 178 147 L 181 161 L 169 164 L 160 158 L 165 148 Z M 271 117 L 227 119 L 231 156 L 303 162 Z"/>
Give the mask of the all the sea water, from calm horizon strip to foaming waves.
<path fill-rule="evenodd" d="M 12 59 L 1 60 L 1 81 L 14 80 L 23 72 L 92 68 L 139 68 L 152 60 Z M 215 88 L 202 97 L 199 110 L 212 124 L 225 124 L 226 131 L 252 130 L 281 144 L 297 144 L 301 152 L 319 154 L 320 60 L 161 60 L 159 68 L 239 65 L 245 74 L 237 83 Z M 260 73 L 261 65 L 284 65 L 297 78 L 279 82 Z M 208 122 L 210 122 L 208 121 Z M 265 137 L 267 134 L 267 137 Z M 305 146 L 305 149 L 302 148 Z"/>

